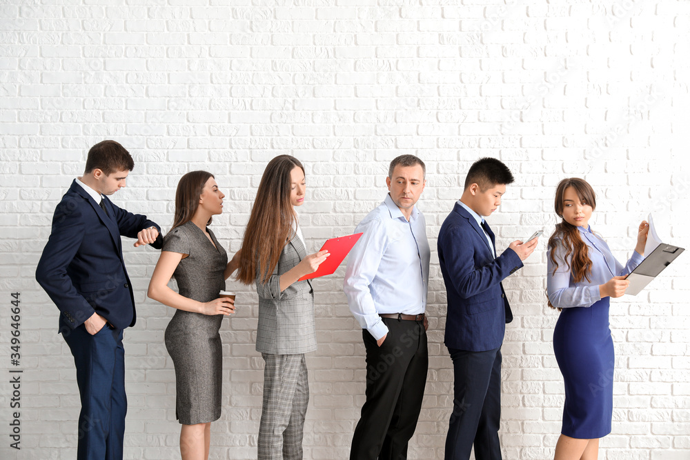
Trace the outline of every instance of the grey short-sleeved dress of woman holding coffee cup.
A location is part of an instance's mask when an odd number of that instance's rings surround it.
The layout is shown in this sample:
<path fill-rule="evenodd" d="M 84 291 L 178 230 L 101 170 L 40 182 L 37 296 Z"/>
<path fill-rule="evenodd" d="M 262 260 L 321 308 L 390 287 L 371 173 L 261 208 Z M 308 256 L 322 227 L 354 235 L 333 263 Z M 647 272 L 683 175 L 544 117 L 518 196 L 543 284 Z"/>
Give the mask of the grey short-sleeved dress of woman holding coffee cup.
<path fill-rule="evenodd" d="M 199 302 L 217 299 L 225 289 L 228 254 L 213 232 L 208 234 L 215 248 L 195 223 L 188 222 L 169 232 L 163 243 L 164 251 L 189 254 L 175 269 L 175 279 L 179 294 Z M 223 357 L 218 330 L 223 318 L 177 310 L 168 323 L 166 348 L 175 364 L 179 423 L 220 418 Z"/>

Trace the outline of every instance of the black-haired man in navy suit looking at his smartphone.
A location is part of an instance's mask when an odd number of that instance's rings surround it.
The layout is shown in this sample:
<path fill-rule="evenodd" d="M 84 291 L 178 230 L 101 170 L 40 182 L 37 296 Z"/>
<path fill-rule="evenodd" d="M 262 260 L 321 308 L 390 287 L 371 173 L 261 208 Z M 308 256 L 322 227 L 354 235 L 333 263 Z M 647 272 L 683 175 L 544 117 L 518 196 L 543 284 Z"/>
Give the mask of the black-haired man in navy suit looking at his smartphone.
<path fill-rule="evenodd" d="M 453 360 L 453 414 L 446 460 L 500 460 L 501 345 L 513 313 L 501 281 L 522 268 L 537 246 L 513 241 L 496 257 L 495 237 L 484 220 L 501 203 L 513 174 L 497 159 L 470 168 L 462 197 L 438 235 L 438 257 L 448 312 L 444 343 Z"/>

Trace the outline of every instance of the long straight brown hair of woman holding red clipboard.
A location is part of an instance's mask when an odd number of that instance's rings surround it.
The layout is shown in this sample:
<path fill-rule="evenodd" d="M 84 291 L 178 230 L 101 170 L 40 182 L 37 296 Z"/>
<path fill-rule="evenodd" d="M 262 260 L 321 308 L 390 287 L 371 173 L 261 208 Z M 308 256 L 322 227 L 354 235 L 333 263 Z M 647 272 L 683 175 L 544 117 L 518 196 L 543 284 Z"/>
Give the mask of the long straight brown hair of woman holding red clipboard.
<path fill-rule="evenodd" d="M 290 204 L 290 172 L 304 166 L 295 157 L 279 155 L 268 162 L 244 230 L 237 279 L 251 284 L 258 275 L 266 281 L 280 253 L 293 236 L 297 217 Z"/>

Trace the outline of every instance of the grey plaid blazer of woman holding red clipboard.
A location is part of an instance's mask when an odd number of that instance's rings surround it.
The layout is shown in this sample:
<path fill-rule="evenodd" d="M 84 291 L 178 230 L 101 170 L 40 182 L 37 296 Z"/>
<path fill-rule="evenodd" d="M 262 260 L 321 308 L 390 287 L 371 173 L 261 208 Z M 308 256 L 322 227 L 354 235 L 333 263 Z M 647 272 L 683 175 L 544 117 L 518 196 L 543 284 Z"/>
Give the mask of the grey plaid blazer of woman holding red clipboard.
<path fill-rule="evenodd" d="M 257 352 L 299 354 L 316 350 L 311 281 L 296 281 L 280 292 L 280 275 L 296 266 L 304 257 L 304 244 L 295 234 L 283 248 L 277 266 L 266 283 L 260 282 L 257 273 Z"/>

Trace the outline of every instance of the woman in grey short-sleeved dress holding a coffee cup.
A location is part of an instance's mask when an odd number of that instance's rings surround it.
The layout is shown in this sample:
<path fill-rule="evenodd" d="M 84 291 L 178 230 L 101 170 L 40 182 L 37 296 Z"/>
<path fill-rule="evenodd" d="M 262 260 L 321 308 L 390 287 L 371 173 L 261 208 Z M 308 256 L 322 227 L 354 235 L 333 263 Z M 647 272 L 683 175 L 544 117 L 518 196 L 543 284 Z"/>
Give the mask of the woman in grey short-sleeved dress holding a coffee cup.
<path fill-rule="evenodd" d="M 234 301 L 219 298 L 237 268 L 207 226 L 223 212 L 224 194 L 212 174 L 193 171 L 177 184 L 175 221 L 148 286 L 148 297 L 176 308 L 166 329 L 166 348 L 175 363 L 177 419 L 182 424 L 183 460 L 208 459 L 210 423 L 221 413 L 223 317 Z M 239 254 L 239 252 L 238 252 Z M 174 276 L 179 293 L 168 288 Z"/>

